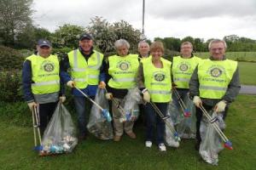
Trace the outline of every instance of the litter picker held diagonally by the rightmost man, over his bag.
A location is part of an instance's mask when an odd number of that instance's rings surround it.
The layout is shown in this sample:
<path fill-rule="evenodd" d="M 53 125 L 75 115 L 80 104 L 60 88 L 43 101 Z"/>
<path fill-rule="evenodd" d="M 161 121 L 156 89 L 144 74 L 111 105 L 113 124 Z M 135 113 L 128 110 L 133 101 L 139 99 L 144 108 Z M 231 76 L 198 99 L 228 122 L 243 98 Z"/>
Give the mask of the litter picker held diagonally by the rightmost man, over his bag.
<path fill-rule="evenodd" d="M 221 139 L 224 140 L 224 147 L 229 149 L 229 150 L 233 150 L 232 143 L 225 136 L 225 134 L 222 132 L 222 130 L 218 127 L 218 124 L 216 123 L 216 121 L 218 121 L 218 119 L 216 119 L 215 117 L 212 119 L 212 117 L 209 115 L 209 113 L 207 112 L 207 110 L 203 106 L 200 106 L 200 109 L 203 112 L 204 116 L 207 117 L 207 120 L 212 123 L 212 126 L 217 131 L 217 133 L 219 134 Z"/>

